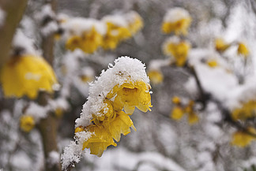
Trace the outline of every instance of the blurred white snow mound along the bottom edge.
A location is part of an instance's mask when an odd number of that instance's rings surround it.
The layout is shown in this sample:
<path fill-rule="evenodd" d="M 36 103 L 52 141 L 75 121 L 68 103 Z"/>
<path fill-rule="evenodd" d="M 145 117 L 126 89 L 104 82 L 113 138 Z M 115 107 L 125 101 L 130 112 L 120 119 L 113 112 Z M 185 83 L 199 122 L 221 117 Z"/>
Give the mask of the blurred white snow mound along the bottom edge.
<path fill-rule="evenodd" d="M 101 158 L 88 155 L 85 159 L 92 160 L 96 163 L 96 171 L 100 170 L 172 170 L 185 171 L 180 165 L 175 163 L 171 158 L 166 158 L 162 154 L 154 151 L 133 153 L 127 151 L 124 147 L 119 147 L 105 151 Z M 150 168 L 149 168 L 150 166 Z"/>

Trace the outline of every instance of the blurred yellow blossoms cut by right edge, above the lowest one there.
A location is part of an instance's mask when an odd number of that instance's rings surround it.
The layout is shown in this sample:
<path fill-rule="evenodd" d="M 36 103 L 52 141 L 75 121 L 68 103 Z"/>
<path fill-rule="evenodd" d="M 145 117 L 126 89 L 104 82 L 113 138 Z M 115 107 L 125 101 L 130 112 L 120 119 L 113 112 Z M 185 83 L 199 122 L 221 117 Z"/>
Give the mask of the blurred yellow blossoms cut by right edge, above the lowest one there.
<path fill-rule="evenodd" d="M 256 116 L 256 101 L 250 100 L 244 102 L 239 108 L 232 111 L 232 118 L 237 120 L 247 120 L 248 118 Z"/>

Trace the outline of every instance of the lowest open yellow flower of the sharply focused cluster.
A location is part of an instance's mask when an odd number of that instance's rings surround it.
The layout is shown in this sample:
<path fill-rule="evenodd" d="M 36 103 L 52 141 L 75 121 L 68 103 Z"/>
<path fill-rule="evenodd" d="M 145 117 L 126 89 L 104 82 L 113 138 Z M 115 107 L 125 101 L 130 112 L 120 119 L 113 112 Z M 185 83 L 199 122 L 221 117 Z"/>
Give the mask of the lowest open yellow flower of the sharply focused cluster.
<path fill-rule="evenodd" d="M 85 130 L 86 132 L 92 132 L 92 137 L 85 141 L 83 144 L 83 150 L 89 148 L 91 154 L 96 154 L 100 157 L 108 146 L 115 146 L 116 143 L 112 138 L 110 132 L 104 128 L 104 126 L 89 125 Z"/>

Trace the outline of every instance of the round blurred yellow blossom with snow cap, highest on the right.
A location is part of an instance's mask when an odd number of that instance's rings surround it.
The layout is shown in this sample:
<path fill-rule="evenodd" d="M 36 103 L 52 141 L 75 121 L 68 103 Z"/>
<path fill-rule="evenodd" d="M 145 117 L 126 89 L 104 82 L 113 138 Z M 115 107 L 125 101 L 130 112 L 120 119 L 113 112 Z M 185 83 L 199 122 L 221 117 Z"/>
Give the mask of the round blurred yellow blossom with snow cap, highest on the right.
<path fill-rule="evenodd" d="M 186 9 L 170 9 L 164 17 L 162 31 L 166 34 L 175 32 L 175 35 L 186 35 L 190 23 L 191 17 Z"/>

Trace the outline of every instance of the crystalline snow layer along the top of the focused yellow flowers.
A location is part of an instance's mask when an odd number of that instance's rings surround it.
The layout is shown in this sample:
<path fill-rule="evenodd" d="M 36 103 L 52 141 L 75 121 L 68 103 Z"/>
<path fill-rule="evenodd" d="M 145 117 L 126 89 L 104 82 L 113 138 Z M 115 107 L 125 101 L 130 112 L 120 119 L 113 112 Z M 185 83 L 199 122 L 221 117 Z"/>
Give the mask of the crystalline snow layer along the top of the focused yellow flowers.
<path fill-rule="evenodd" d="M 88 101 L 83 106 L 81 117 L 77 118 L 77 126 L 87 126 L 92 120 L 92 113 L 100 114 L 104 108 L 104 99 L 115 85 L 122 85 L 128 79 L 142 80 L 149 83 L 145 65 L 141 61 L 129 57 L 115 60 L 115 65 L 108 65 L 107 71 L 102 71 L 94 83 L 90 84 Z"/>

